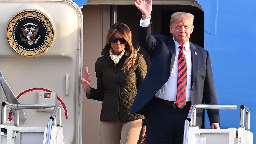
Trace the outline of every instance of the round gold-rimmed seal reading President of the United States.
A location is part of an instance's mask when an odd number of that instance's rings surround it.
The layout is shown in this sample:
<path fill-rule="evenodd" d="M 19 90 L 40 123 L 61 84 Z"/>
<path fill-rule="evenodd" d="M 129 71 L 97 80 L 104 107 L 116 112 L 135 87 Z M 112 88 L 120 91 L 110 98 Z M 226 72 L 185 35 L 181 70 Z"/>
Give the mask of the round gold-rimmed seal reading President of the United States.
<path fill-rule="evenodd" d="M 44 54 L 54 39 L 54 26 L 42 12 L 24 10 L 15 14 L 7 27 L 7 40 L 20 55 L 36 57 Z"/>

